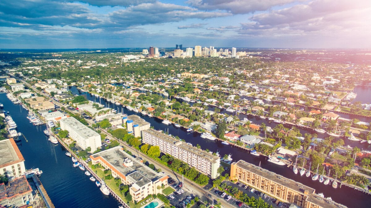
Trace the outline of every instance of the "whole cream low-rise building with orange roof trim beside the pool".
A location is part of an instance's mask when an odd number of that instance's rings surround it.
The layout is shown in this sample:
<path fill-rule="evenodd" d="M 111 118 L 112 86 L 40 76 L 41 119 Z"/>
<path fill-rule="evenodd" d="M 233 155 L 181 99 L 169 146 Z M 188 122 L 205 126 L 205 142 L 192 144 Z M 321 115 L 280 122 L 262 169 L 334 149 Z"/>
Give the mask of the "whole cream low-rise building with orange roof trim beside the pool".
<path fill-rule="evenodd" d="M 92 164 L 100 163 L 112 171 L 114 178 L 118 177 L 123 184 L 129 185 L 133 201 L 141 201 L 150 194 L 161 194 L 162 188 L 157 187 L 168 185 L 167 175 L 147 167 L 139 157 L 132 157 L 120 146 L 92 154 L 90 158 Z"/>

